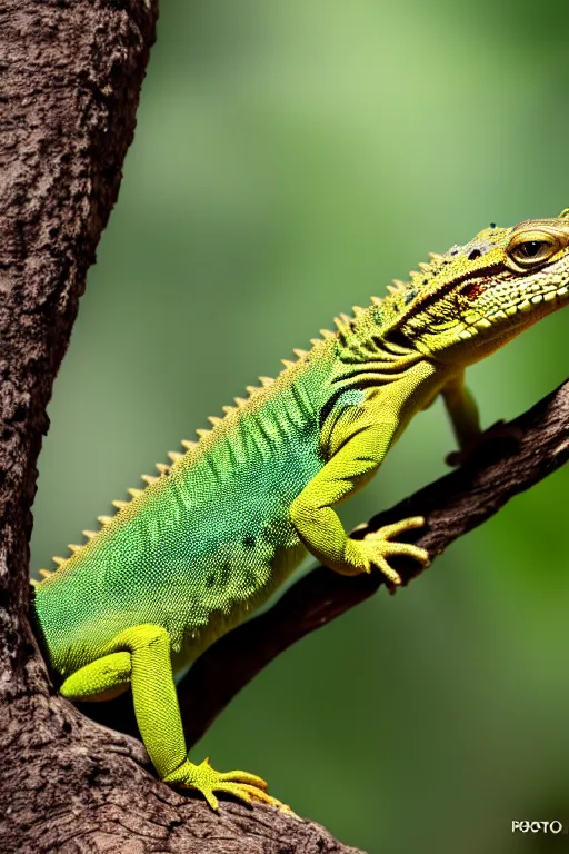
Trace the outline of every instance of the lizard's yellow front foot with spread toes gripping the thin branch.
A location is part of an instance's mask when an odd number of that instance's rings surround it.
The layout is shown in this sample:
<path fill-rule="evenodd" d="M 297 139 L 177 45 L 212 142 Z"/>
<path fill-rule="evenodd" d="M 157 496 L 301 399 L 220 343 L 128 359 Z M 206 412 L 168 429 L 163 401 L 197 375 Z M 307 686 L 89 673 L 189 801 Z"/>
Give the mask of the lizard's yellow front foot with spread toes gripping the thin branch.
<path fill-rule="evenodd" d="M 361 570 L 371 572 L 371 566 L 377 566 L 383 573 L 388 583 L 388 589 L 393 592 L 401 584 L 401 576 L 389 565 L 389 558 L 395 555 L 406 555 L 413 560 L 418 560 L 422 566 L 429 563 L 429 553 L 425 548 L 413 546 L 410 543 L 392 543 L 391 537 L 397 537 L 405 530 L 422 528 L 425 518 L 422 516 L 411 516 L 408 519 L 401 519 L 393 525 L 385 525 L 379 530 L 368 534 L 363 539 L 350 539 L 350 559 L 356 558 L 359 562 Z"/>

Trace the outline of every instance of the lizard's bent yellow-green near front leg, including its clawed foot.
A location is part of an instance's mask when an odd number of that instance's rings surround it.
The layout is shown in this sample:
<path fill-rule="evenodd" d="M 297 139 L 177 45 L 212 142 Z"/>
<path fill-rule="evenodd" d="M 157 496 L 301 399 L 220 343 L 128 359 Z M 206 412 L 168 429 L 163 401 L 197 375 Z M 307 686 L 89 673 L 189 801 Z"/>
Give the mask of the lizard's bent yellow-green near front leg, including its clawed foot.
<path fill-rule="evenodd" d="M 396 418 L 385 418 L 380 424 L 355 430 L 290 507 L 290 519 L 300 539 L 326 566 L 342 575 L 358 575 L 371 572 L 375 565 L 391 585 L 401 584 L 401 577 L 389 565 L 389 557 L 407 555 L 423 565 L 428 563 L 429 555 L 423 548 L 391 542 L 391 537 L 403 530 L 421 527 L 425 519 L 421 516 L 401 519 L 363 539 L 351 539 L 332 506 L 373 477 L 396 430 Z"/>

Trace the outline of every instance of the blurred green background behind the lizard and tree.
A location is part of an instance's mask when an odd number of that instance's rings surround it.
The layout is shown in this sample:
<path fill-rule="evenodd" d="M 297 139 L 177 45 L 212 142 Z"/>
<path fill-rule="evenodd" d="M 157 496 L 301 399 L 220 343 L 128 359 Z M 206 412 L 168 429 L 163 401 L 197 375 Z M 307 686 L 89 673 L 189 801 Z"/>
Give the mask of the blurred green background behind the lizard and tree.
<path fill-rule="evenodd" d="M 119 203 L 50 406 L 32 566 L 429 250 L 569 205 L 566 2 L 163 2 Z M 559 314 L 470 371 L 486 425 L 567 374 Z M 347 525 L 431 480 L 417 417 Z M 193 751 L 369 852 L 569 826 L 562 470 L 262 673 Z M 560 850 L 568 837 L 548 837 Z"/>

